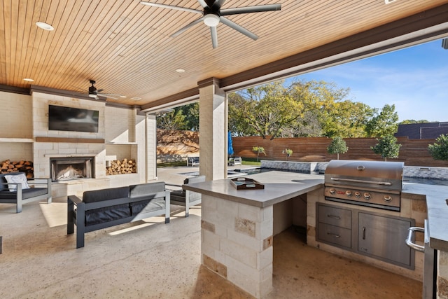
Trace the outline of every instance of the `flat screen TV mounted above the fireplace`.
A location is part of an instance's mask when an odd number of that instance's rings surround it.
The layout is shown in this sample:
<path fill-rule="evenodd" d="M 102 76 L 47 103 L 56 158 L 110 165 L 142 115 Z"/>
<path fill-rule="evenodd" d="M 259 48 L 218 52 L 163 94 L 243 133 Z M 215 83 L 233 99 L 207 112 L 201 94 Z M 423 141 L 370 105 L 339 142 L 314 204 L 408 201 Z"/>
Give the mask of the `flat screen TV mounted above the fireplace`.
<path fill-rule="evenodd" d="M 48 130 L 98 132 L 99 111 L 48 106 Z"/>

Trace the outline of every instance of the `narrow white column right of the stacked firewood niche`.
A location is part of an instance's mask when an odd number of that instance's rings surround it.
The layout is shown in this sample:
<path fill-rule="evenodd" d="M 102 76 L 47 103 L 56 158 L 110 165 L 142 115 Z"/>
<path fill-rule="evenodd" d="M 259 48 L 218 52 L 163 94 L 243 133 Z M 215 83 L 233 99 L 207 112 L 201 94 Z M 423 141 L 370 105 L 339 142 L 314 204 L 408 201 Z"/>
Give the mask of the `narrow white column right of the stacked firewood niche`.
<path fill-rule="evenodd" d="M 146 181 L 157 179 L 157 120 L 146 114 Z"/>

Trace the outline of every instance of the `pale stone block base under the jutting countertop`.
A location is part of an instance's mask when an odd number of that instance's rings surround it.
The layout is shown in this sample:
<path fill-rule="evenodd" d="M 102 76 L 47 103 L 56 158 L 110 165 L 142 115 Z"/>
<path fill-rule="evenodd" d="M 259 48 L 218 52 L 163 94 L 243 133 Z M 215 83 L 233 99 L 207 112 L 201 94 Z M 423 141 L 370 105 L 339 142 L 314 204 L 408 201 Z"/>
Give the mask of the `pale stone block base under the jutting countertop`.
<path fill-rule="evenodd" d="M 255 298 L 265 298 L 273 289 L 273 223 L 273 206 L 253 207 L 203 194 L 202 265 Z"/>

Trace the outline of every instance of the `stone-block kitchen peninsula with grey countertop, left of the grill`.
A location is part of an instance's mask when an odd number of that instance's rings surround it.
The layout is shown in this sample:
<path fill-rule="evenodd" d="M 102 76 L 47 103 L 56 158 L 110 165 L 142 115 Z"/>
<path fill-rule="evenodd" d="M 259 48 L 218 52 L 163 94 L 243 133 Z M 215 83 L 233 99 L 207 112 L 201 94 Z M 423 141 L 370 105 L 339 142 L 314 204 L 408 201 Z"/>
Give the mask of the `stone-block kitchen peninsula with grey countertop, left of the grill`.
<path fill-rule="evenodd" d="M 183 188 L 202 193 L 202 265 L 263 298 L 272 291 L 273 206 L 321 189 L 323 177 L 269 172 L 251 178 L 265 188 L 237 190 L 229 179 Z"/>

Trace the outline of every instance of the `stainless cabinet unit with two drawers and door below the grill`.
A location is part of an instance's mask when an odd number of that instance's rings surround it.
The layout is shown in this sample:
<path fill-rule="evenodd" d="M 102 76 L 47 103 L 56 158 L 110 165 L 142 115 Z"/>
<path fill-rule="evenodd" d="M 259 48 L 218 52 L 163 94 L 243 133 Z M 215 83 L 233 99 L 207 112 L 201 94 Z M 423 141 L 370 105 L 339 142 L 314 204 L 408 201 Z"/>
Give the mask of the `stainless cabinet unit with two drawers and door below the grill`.
<path fill-rule="evenodd" d="M 318 242 L 370 256 L 408 269 L 414 252 L 406 245 L 410 218 L 317 203 Z"/>

